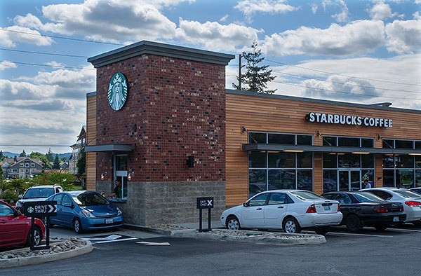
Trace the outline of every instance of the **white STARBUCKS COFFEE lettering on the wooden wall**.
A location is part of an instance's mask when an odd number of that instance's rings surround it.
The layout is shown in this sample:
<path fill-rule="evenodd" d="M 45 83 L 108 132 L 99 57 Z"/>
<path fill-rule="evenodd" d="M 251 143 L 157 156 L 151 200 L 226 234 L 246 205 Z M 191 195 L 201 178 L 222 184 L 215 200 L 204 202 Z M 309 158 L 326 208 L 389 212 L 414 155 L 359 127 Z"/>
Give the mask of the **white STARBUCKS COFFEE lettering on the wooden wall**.
<path fill-rule="evenodd" d="M 366 127 L 392 127 L 392 119 L 372 118 L 352 115 L 310 112 L 305 118 L 310 123 L 330 123 L 334 125 L 363 125 Z"/>

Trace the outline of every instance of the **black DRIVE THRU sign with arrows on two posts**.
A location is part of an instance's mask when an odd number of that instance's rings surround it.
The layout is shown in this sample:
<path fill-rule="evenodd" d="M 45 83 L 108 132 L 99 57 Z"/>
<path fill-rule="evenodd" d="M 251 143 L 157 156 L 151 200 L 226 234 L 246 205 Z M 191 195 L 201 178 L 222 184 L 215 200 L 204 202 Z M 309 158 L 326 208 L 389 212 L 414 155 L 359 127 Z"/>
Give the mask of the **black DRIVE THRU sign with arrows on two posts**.
<path fill-rule="evenodd" d="M 25 202 L 23 214 L 31 218 L 31 250 L 50 249 L 50 216 L 57 215 L 57 201 L 30 201 Z M 46 246 L 34 245 L 35 218 L 46 218 Z"/>

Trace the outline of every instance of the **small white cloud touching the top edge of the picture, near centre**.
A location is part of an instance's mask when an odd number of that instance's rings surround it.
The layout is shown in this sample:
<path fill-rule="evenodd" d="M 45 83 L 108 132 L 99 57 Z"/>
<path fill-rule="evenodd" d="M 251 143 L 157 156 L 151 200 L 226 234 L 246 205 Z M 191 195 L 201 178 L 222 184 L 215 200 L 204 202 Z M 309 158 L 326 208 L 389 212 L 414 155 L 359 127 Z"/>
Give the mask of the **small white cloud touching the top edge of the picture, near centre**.
<path fill-rule="evenodd" d="M 299 7 L 290 6 L 283 0 L 245 0 L 239 1 L 234 8 L 241 11 L 250 21 L 256 13 L 289 13 Z"/>

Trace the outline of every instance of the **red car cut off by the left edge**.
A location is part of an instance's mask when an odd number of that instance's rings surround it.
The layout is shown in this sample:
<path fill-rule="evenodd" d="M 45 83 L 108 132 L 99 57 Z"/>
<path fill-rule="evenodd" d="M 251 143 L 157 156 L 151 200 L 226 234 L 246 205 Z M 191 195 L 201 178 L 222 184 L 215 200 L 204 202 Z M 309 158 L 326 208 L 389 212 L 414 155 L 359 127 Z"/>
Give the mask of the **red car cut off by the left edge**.
<path fill-rule="evenodd" d="M 31 245 L 31 220 L 9 205 L 0 200 L 0 247 L 13 245 Z M 35 219 L 34 241 L 38 245 L 44 238 L 45 226 L 41 220 Z"/>

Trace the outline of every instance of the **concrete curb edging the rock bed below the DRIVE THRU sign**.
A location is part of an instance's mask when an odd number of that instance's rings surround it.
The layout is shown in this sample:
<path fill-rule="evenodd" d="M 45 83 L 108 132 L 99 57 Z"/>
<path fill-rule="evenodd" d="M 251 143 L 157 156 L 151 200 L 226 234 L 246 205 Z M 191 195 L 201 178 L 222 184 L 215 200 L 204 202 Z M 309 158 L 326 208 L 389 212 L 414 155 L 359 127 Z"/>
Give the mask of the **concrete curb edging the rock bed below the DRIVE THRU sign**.
<path fill-rule="evenodd" d="M 58 244 L 60 242 L 55 242 L 54 244 Z M 51 244 L 53 246 L 54 244 Z M 27 249 L 16 249 L 12 252 L 17 251 L 24 251 Z M 62 251 L 59 253 L 54 254 L 46 254 L 41 256 L 30 256 L 27 258 L 6 258 L 6 259 L 0 259 L 0 268 L 14 268 L 16 266 L 22 266 L 22 265 L 34 265 L 38 263 L 47 263 L 50 261 L 60 261 L 64 260 L 65 258 L 73 258 L 75 256 L 80 256 L 83 254 L 90 253 L 93 250 L 92 243 L 90 241 L 86 241 L 86 245 L 84 247 L 79 247 L 76 249 L 68 250 L 68 251 Z"/>

